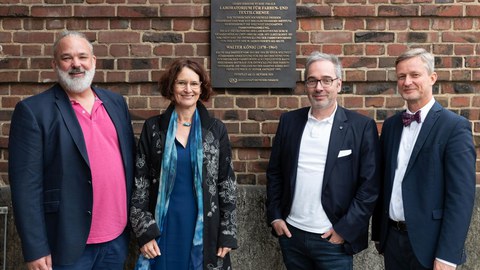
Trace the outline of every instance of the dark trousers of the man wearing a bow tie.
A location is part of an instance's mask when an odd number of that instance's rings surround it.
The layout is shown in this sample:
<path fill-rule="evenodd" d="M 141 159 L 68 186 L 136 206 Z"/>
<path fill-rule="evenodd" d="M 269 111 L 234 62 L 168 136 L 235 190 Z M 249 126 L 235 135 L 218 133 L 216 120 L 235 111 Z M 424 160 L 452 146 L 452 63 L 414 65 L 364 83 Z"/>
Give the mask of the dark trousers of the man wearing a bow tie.
<path fill-rule="evenodd" d="M 420 264 L 413 253 L 406 230 L 390 227 L 385 243 L 385 270 L 430 270 Z M 433 263 L 433 262 L 432 262 Z"/>

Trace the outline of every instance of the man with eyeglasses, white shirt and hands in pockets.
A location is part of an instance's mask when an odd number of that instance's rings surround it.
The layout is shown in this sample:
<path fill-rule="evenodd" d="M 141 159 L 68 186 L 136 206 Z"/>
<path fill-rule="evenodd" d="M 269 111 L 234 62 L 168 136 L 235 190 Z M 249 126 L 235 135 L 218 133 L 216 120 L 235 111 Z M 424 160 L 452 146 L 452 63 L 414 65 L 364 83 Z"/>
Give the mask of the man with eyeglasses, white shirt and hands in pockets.
<path fill-rule="evenodd" d="M 311 106 L 281 116 L 267 169 L 267 222 L 287 269 L 348 270 L 368 246 L 379 193 L 374 120 L 337 104 L 342 67 L 335 55 L 307 59 Z"/>

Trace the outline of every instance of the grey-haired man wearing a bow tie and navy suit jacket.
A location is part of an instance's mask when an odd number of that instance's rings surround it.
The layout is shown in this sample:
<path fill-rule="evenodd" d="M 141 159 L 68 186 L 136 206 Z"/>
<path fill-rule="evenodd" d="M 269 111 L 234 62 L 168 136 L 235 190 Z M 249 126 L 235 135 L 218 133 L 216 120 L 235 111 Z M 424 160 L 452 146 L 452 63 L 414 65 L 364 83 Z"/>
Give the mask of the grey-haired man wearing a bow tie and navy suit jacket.
<path fill-rule="evenodd" d="M 386 270 L 455 269 L 466 260 L 475 199 L 471 124 L 435 101 L 432 54 L 412 49 L 395 66 L 407 110 L 383 124 L 372 240 Z"/>

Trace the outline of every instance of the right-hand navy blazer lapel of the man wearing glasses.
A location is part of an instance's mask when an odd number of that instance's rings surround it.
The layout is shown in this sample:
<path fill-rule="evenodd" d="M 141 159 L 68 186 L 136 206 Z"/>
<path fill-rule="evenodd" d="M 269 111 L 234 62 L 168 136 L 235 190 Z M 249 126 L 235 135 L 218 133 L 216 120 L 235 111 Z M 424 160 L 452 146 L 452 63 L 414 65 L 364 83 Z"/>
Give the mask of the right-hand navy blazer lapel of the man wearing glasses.
<path fill-rule="evenodd" d="M 330 174 L 338 159 L 338 153 L 342 150 L 345 135 L 350 127 L 350 124 L 347 121 L 348 119 L 344 109 L 338 106 L 337 112 L 333 118 L 332 132 L 330 133 L 327 161 L 325 163 L 325 173 L 323 175 L 323 187 L 327 185 L 328 180 L 331 178 Z"/>

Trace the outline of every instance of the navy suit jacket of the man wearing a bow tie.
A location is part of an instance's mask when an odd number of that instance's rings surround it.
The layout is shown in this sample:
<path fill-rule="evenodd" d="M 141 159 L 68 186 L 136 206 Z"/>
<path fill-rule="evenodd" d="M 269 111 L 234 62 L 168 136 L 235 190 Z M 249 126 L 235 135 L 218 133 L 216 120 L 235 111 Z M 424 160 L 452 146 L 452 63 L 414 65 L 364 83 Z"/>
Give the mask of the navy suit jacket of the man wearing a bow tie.
<path fill-rule="evenodd" d="M 385 248 L 388 211 L 402 135 L 401 113 L 387 119 L 380 137 L 383 190 L 372 239 Z M 475 147 L 469 121 L 435 103 L 428 113 L 402 182 L 405 221 L 413 251 L 431 268 L 436 257 L 461 264 L 475 196 Z"/>

